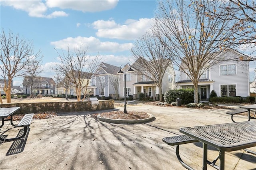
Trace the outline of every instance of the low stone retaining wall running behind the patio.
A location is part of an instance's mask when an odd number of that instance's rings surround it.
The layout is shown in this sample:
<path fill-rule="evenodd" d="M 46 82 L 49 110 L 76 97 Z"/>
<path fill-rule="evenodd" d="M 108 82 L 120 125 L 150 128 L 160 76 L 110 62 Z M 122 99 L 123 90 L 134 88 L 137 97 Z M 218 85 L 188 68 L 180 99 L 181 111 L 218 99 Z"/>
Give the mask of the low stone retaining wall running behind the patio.
<path fill-rule="evenodd" d="M 4 107 L 20 107 L 17 114 L 36 113 L 39 111 L 56 112 L 78 112 L 114 109 L 114 100 L 102 100 L 98 105 L 91 105 L 90 101 L 71 101 L 71 102 L 40 102 L 40 103 L 7 103 L 0 104 Z"/>

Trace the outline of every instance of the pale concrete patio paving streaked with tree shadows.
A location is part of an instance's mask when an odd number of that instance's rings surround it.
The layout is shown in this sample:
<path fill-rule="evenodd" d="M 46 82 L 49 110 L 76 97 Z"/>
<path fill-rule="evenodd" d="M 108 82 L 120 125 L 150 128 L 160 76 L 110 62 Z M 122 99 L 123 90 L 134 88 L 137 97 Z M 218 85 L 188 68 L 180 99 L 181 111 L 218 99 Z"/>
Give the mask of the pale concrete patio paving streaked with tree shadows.
<path fill-rule="evenodd" d="M 123 107 L 116 108 L 123 110 Z M 162 138 L 181 134 L 179 128 L 231 123 L 228 109 L 189 109 L 151 105 L 127 106 L 127 111 L 144 111 L 155 121 L 137 125 L 97 121 L 92 112 L 59 113 L 52 119 L 33 120 L 22 140 L 0 144 L 0 169 L 19 170 L 181 170 L 175 146 Z M 236 121 L 247 121 L 235 116 Z M 7 124 L 3 131 L 11 128 Z M 16 136 L 20 128 L 4 133 Z M 250 148 L 256 151 L 256 147 Z M 180 146 L 182 160 L 196 170 L 202 169 L 202 144 Z M 218 151 L 208 148 L 208 160 Z M 256 169 L 256 156 L 244 150 L 226 152 L 227 170 Z M 218 162 L 217 162 L 218 164 Z M 208 166 L 209 170 L 215 170 Z"/>

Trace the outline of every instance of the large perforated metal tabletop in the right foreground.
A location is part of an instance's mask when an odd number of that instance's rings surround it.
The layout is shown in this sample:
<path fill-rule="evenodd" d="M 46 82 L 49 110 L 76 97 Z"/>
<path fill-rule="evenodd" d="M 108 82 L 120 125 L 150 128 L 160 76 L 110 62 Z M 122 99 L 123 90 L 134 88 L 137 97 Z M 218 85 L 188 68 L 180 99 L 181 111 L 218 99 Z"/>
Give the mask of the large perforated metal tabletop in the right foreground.
<path fill-rule="evenodd" d="M 256 146 L 256 121 L 186 127 L 180 132 L 228 152 Z"/>

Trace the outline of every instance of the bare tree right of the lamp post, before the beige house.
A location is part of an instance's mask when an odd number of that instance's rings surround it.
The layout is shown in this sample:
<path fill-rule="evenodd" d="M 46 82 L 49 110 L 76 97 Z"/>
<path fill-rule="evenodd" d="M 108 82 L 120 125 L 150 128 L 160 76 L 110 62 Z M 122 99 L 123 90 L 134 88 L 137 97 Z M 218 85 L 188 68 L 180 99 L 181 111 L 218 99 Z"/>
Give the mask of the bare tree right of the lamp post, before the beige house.
<path fill-rule="evenodd" d="M 136 64 L 132 67 L 140 75 L 152 79 L 159 88 L 159 101 L 163 101 L 162 82 L 166 69 L 172 65 L 166 45 L 160 42 L 158 32 L 147 32 L 136 40 L 131 52 Z M 149 73 L 149 74 L 148 74 Z"/>

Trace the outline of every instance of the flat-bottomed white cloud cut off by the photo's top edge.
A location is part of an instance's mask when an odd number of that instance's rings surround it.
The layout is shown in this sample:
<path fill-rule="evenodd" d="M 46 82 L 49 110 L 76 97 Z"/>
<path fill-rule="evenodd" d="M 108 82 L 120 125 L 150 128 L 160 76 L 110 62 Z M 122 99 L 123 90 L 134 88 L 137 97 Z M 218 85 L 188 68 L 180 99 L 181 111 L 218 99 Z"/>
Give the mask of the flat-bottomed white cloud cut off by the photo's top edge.
<path fill-rule="evenodd" d="M 46 0 L 50 8 L 72 9 L 82 12 L 99 12 L 116 7 L 118 0 Z"/>

